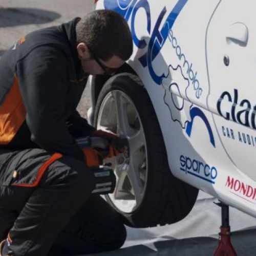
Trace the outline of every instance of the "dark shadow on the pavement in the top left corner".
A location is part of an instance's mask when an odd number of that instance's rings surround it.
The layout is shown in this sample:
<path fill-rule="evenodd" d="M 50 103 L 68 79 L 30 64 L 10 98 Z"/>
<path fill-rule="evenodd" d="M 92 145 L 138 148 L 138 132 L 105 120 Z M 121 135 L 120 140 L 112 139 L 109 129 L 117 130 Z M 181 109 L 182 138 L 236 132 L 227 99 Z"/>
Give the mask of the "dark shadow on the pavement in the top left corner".
<path fill-rule="evenodd" d="M 59 13 L 48 10 L 0 7 L 0 28 L 49 23 L 60 16 Z"/>

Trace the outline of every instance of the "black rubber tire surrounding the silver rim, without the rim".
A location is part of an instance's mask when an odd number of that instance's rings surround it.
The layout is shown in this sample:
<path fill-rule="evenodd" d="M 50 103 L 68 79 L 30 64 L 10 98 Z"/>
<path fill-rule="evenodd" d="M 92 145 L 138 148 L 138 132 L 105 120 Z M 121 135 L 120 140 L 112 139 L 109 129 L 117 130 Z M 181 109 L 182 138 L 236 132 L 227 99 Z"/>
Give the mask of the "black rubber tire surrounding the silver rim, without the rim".
<path fill-rule="evenodd" d="M 97 99 L 94 124 L 97 124 L 103 99 L 113 90 L 129 96 L 140 116 L 147 147 L 147 185 L 142 202 L 133 212 L 120 211 L 108 196 L 106 200 L 131 227 L 152 227 L 182 220 L 193 208 L 198 189 L 175 178 L 170 172 L 158 119 L 137 76 L 119 74 L 105 82 Z"/>

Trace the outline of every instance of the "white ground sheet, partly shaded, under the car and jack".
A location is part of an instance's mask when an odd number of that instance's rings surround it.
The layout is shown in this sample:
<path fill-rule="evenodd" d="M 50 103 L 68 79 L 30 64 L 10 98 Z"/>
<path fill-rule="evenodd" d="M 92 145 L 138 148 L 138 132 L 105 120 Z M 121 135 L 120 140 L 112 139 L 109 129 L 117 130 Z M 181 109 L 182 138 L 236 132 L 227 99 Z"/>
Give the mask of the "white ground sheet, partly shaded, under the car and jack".
<path fill-rule="evenodd" d="M 221 225 L 221 208 L 214 202 L 218 200 L 200 191 L 194 208 L 182 221 L 154 228 L 127 227 L 127 240 L 120 250 L 93 255 L 213 255 Z M 256 255 L 256 218 L 231 207 L 229 217 L 237 254 Z"/>

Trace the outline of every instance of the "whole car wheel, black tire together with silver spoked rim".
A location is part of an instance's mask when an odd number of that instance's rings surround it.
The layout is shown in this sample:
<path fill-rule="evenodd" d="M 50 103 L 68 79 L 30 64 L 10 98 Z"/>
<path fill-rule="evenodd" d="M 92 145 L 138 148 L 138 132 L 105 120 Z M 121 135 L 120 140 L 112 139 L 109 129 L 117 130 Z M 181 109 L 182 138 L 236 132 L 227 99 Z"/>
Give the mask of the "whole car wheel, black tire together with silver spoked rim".
<path fill-rule="evenodd" d="M 198 189 L 170 172 L 158 119 L 137 76 L 119 74 L 105 82 L 97 99 L 94 125 L 129 140 L 130 156 L 109 160 L 117 186 L 106 196 L 126 225 L 172 224 L 188 215 Z"/>

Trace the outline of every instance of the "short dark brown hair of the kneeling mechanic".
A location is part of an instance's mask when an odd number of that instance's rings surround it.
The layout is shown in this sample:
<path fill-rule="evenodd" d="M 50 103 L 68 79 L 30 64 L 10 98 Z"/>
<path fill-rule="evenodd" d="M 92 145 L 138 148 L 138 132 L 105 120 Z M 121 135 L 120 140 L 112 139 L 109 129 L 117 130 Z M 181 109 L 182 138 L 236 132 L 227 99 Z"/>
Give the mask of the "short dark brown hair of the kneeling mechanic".
<path fill-rule="evenodd" d="M 130 58 L 133 39 L 125 19 L 115 11 L 96 10 L 84 16 L 76 25 L 77 44 L 84 42 L 102 60 L 113 55 Z"/>

